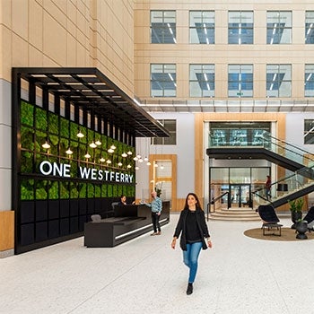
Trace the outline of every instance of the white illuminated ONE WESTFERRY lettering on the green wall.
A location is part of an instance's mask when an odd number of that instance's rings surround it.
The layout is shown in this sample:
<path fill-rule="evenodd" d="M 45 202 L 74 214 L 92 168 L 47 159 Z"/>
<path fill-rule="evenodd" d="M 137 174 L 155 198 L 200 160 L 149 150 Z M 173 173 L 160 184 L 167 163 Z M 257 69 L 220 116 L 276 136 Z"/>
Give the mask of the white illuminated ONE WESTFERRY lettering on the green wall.
<path fill-rule="evenodd" d="M 67 163 L 42 161 L 39 164 L 39 171 L 44 176 L 71 178 L 71 165 Z M 99 170 L 80 166 L 78 173 L 80 179 L 133 183 L 133 174 L 119 171 Z"/>

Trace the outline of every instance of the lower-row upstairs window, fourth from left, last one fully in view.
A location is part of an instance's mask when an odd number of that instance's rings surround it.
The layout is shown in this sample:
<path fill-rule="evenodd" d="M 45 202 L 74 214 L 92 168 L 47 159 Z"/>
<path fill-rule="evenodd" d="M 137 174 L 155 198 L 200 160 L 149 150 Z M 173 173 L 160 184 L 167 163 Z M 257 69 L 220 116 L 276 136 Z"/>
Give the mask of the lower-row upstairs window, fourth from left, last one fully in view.
<path fill-rule="evenodd" d="M 266 96 L 291 97 L 291 65 L 266 65 Z"/>

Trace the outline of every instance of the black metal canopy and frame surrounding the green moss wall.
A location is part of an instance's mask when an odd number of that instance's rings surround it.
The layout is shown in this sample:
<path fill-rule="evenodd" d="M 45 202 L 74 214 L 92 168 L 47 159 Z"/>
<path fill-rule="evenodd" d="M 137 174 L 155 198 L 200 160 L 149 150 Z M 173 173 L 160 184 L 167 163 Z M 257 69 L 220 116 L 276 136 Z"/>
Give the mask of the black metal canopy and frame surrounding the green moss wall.
<path fill-rule="evenodd" d="M 112 83 L 108 77 L 96 68 L 25 68 L 12 69 L 12 204 L 15 211 L 15 253 L 38 249 L 62 240 L 81 236 L 82 232 L 57 239 L 48 239 L 17 249 L 18 230 L 21 209 L 21 100 L 22 83 L 28 83 L 29 101 L 36 103 L 36 97 L 42 100 L 42 108 L 49 107 L 49 95 L 54 97 L 54 109 L 60 114 L 60 103 L 65 102 L 65 118 L 70 119 L 71 106 L 74 106 L 74 121 L 79 122 L 80 110 L 83 113 L 83 125 L 87 126 L 91 116 L 91 128 L 100 124 L 104 134 L 120 142 L 135 146 L 135 137 L 169 136 L 168 131 L 152 118 L 144 109 L 136 105 L 125 92 Z M 38 92 L 41 92 L 38 95 Z M 108 128 L 107 128 L 108 126 Z M 120 130 L 120 132 L 118 132 Z M 95 200 L 100 203 L 101 200 Z M 110 200 L 111 202 L 112 200 Z M 89 212 L 90 213 L 90 212 Z M 92 214 L 94 212 L 91 212 Z"/>

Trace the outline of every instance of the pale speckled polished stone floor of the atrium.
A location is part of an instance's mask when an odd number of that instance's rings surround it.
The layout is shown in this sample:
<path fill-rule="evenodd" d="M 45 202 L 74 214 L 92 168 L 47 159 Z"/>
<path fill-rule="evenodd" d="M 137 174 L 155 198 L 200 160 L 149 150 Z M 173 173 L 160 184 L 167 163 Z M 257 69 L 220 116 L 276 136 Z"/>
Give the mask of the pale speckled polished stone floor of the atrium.
<path fill-rule="evenodd" d="M 255 240 L 243 231 L 260 222 L 208 222 L 214 248 L 188 296 L 182 252 L 170 249 L 178 217 L 113 249 L 79 238 L 0 259 L 0 313 L 314 313 L 313 240 Z"/>

